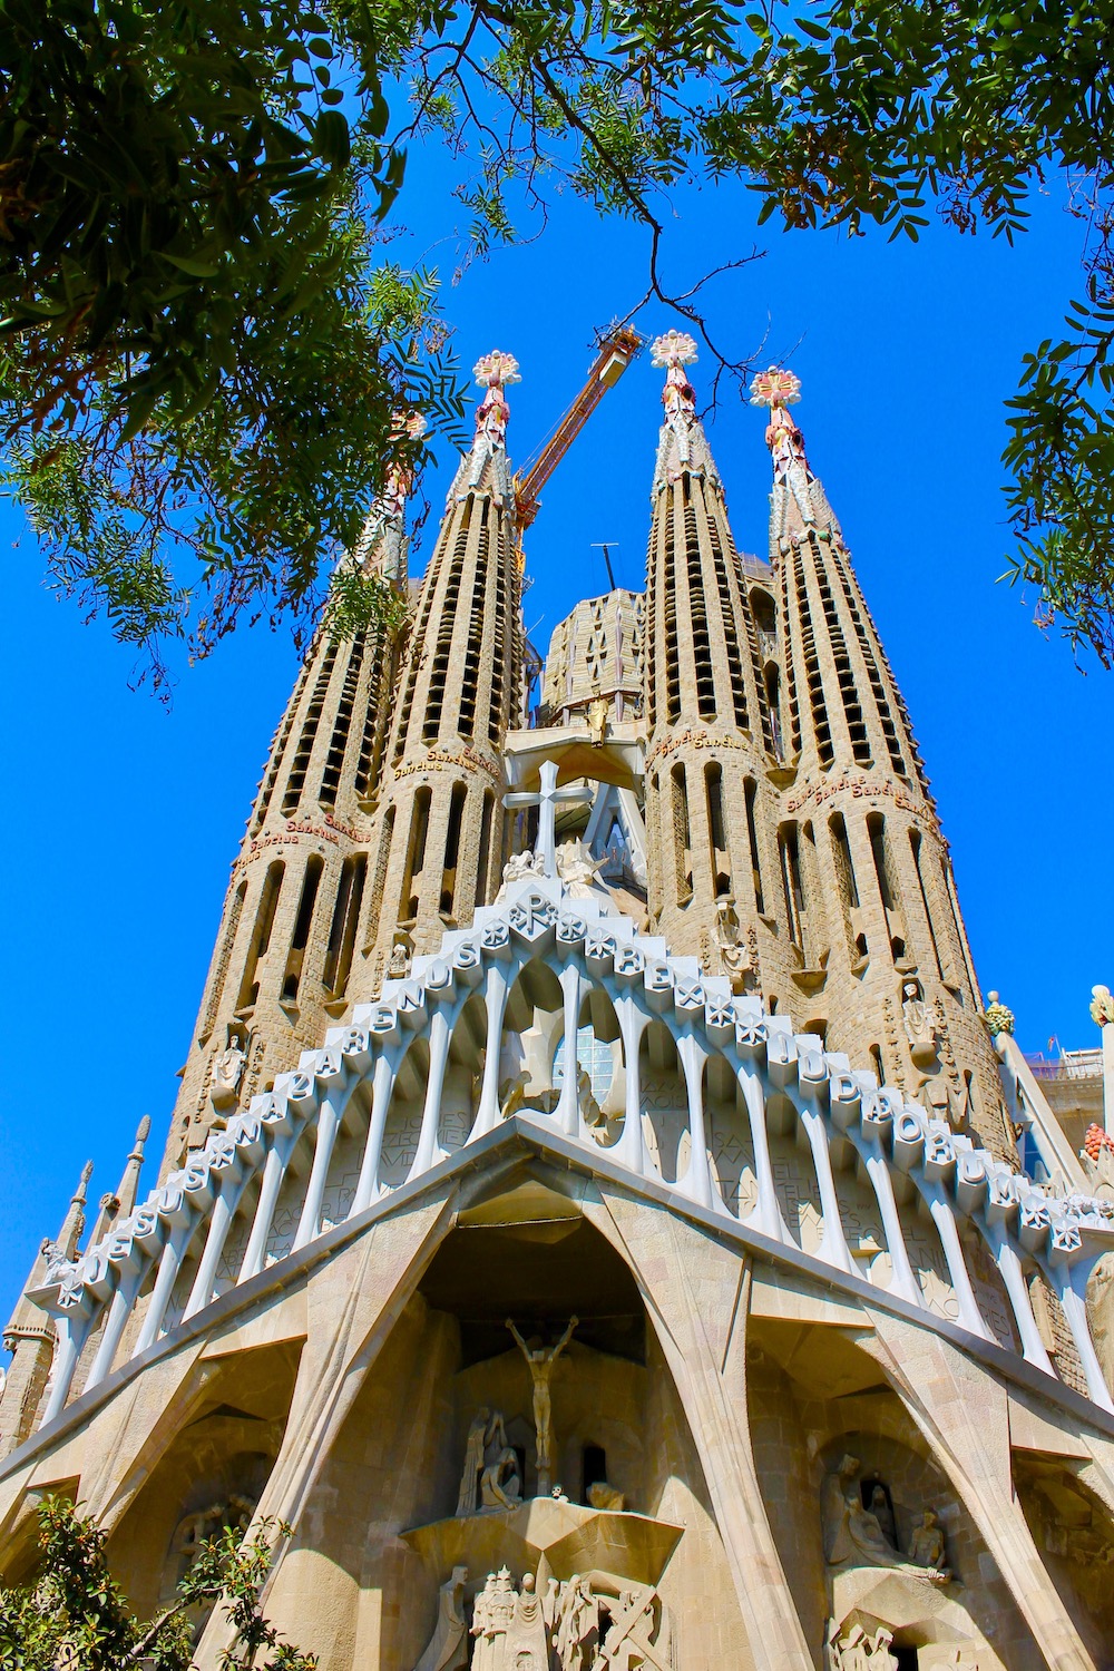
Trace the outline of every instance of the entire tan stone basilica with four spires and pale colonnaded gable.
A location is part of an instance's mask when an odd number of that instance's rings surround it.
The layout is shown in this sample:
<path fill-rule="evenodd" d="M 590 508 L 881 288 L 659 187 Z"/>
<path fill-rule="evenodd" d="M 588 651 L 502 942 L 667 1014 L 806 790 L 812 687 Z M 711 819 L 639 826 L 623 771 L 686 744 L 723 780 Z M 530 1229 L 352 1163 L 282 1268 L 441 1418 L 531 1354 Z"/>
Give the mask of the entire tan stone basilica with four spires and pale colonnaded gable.
<path fill-rule="evenodd" d="M 159 1178 L 144 1125 L 8 1325 L 7 1582 L 60 1492 L 142 1618 L 287 1522 L 322 1671 L 1114 1664 L 1114 1135 L 984 1004 L 797 378 L 760 561 L 693 359 L 646 588 L 544 667 L 509 354 L 421 583 L 374 508 L 406 623 L 302 667 Z"/>

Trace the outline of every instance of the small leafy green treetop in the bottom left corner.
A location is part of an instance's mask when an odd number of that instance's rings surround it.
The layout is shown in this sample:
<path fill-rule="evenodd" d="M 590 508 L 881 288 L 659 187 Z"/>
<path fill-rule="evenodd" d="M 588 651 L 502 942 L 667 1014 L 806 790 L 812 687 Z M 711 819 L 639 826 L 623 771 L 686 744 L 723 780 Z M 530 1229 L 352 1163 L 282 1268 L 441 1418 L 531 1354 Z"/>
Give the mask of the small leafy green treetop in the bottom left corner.
<path fill-rule="evenodd" d="M 281 1639 L 259 1594 L 272 1559 L 264 1521 L 251 1539 L 227 1527 L 200 1544 L 175 1599 L 150 1623 L 129 1608 L 105 1561 L 105 1532 L 62 1497 L 38 1509 L 42 1576 L 32 1586 L 0 1586 L 0 1664 L 5 1671 L 189 1671 L 194 1623 L 224 1609 L 225 1671 L 316 1671 L 314 1654 Z"/>

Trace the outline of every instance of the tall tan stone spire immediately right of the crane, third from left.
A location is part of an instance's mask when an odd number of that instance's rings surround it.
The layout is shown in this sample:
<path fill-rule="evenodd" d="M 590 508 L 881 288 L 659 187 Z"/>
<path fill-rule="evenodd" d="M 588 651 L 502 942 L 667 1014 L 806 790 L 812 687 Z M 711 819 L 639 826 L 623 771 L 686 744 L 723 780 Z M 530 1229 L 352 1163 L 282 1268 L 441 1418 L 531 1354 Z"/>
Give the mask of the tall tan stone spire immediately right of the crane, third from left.
<path fill-rule="evenodd" d="M 763 922 L 775 735 L 750 602 L 765 568 L 735 548 L 686 374 L 695 359 L 680 331 L 653 344 L 666 378 L 646 560 L 650 909 L 676 951 L 758 989 L 763 952 L 778 956 Z M 772 628 L 768 595 L 765 607 Z"/>

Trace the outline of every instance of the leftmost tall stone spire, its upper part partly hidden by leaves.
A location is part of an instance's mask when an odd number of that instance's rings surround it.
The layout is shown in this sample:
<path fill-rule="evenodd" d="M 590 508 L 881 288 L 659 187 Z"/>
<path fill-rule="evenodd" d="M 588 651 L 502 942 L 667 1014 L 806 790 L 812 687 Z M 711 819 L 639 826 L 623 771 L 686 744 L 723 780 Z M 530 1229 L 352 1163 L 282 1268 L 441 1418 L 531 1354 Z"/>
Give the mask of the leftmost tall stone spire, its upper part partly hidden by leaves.
<path fill-rule="evenodd" d="M 419 414 L 399 419 L 401 455 L 356 548 L 337 565 L 382 576 L 399 603 L 409 458 L 423 431 Z M 232 866 L 162 1175 L 347 1008 L 396 640 L 382 620 L 347 640 L 324 630 L 314 637 Z"/>

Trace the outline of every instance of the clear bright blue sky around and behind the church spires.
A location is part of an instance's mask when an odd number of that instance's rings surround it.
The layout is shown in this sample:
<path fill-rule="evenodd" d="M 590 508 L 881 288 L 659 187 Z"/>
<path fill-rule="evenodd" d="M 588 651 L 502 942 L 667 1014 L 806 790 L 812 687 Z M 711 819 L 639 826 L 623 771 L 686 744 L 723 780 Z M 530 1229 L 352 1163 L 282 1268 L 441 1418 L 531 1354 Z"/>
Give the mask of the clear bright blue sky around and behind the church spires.
<path fill-rule="evenodd" d="M 643 292 L 646 239 L 565 197 L 544 237 L 451 284 L 451 184 L 444 159 L 411 170 L 409 231 L 391 254 L 441 271 L 464 366 L 494 346 L 518 356 L 509 444 L 521 461 L 580 388 L 593 329 Z M 802 378 L 797 418 L 912 710 L 984 989 L 999 988 L 1015 1009 L 1025 1049 L 1052 1036 L 1097 1043 L 1089 993 L 1114 974 L 1101 871 L 1114 810 L 1111 680 L 1097 665 L 1082 677 L 1067 647 L 1032 625 L 1034 598 L 995 587 L 1009 548 L 1002 401 L 1022 353 L 1056 333 L 1074 294 L 1076 222 L 1041 199 L 1010 251 L 937 227 L 917 247 L 755 232 L 740 189 L 693 189 L 673 209 L 665 269 L 678 289 L 755 241 L 768 251 L 717 279 L 706 307 L 732 353 L 753 353 L 758 366 L 790 358 Z M 638 323 L 658 333 L 681 321 L 653 304 Z M 705 356 L 693 368 L 698 393 L 710 374 Z M 546 490 L 524 603 L 543 652 L 580 597 L 606 590 L 593 543 L 615 541 L 620 583 L 643 583 L 660 388 L 645 356 Z M 737 541 L 765 553 L 763 414 L 728 403 L 710 434 Z M 428 481 L 434 503 L 451 473 L 441 451 Z M 235 633 L 209 662 L 180 667 L 165 712 L 129 688 L 130 657 L 107 630 L 42 585 L 33 541 L 7 506 L 0 540 L 10 550 L 0 625 L 7 1317 L 84 1160 L 95 1161 L 95 1200 L 115 1186 L 144 1113 L 154 1180 L 229 864 L 297 662 L 281 633 Z"/>

